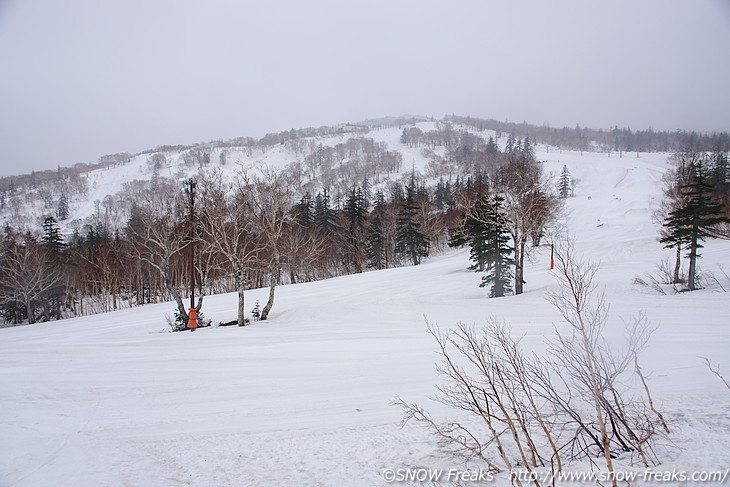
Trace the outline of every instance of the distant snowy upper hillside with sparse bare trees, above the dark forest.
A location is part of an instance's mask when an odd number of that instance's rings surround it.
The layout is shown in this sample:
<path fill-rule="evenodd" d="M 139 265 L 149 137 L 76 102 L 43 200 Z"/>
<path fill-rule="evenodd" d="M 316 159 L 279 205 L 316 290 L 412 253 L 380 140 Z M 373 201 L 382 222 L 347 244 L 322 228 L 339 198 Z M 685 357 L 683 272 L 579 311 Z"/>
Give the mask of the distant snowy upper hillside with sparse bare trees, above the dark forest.
<path fill-rule="evenodd" d="M 429 131 L 437 127 L 437 122 L 419 122 L 417 126 L 423 131 Z M 74 178 L 66 176 L 66 179 L 53 179 L 36 186 L 24 186 L 7 194 L 3 193 L 0 222 L 17 230 L 38 232 L 45 217 L 56 216 L 58 202 L 63 194 L 67 198 L 69 212 L 68 217 L 59 222 L 63 233 L 70 234 L 73 230 L 84 233 L 85 224 L 94 226 L 98 221 L 103 221 L 113 230 L 123 227 L 129 217 L 129 208 L 135 196 L 126 195 L 125 192 L 130 191 L 130 186 L 139 185 L 140 181 L 149 182 L 155 177 L 155 172 L 157 177 L 172 181 L 181 181 L 211 171 L 221 171 L 224 178 L 233 179 L 242 170 L 255 171 L 264 167 L 284 170 L 290 164 L 304 165 L 306 156 L 318 147 L 333 148 L 347 143 L 351 138 L 372 139 L 375 143 L 385 144 L 386 150 L 401 153 L 401 170 L 379 175 L 383 182 L 397 180 L 412 169 L 426 172 L 428 159 L 422 154 L 422 149 L 408 147 L 400 142 L 402 126 L 372 128 L 366 132 L 347 127 L 344 130 L 337 132 L 337 129 L 331 129 L 334 133 L 301 137 L 287 143 L 261 143 L 253 146 L 217 143 L 138 154 L 129 160 L 123 159 L 126 162 L 87 170 Z M 206 153 L 209 162 L 202 164 L 193 161 L 191 152 L 196 151 Z M 164 162 L 155 170 L 152 161 L 158 156 L 163 156 Z M 345 156 L 338 164 L 347 164 L 350 159 L 351 157 Z M 59 169 L 59 174 L 62 172 Z M 362 181 L 353 181 L 352 184 L 362 184 Z M 320 186 L 309 185 L 307 189 L 316 192 L 322 189 Z"/>

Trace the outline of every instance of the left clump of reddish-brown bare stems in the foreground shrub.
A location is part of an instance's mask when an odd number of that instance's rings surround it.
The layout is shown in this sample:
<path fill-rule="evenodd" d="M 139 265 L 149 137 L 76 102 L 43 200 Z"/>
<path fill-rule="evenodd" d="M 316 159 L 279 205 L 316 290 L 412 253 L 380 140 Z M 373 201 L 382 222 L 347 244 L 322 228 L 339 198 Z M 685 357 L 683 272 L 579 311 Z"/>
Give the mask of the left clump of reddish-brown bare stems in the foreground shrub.
<path fill-rule="evenodd" d="M 428 330 L 439 346 L 438 372 L 447 379 L 438 388 L 437 400 L 475 414 L 488 434 L 482 437 L 457 421 L 439 423 L 417 404 L 397 399 L 404 422 L 414 419 L 427 425 L 454 453 L 479 458 L 495 472 L 511 471 L 517 465 L 532 472 L 545 466 L 550 455 L 540 452 L 533 438 L 533 423 L 544 419 L 539 408 L 530 404 L 534 398 L 525 359 L 506 327 L 494 322 L 481 332 L 464 324 L 450 332 L 430 325 Z M 545 431 L 551 437 L 549 428 Z M 519 478 L 515 482 L 522 485 Z"/>

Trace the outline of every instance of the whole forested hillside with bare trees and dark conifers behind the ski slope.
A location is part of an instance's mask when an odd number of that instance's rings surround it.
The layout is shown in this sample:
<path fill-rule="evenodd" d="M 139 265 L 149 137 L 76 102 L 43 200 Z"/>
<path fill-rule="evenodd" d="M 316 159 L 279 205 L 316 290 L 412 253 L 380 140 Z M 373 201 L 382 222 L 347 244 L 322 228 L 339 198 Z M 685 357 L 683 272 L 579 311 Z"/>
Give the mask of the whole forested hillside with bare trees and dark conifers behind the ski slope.
<path fill-rule="evenodd" d="M 277 284 L 417 265 L 449 242 L 474 243 L 468 222 L 496 195 L 509 238 L 498 253 L 514 271 L 489 283 L 510 281 L 519 294 L 526 251 L 553 231 L 572 192 L 568 173 L 543 170 L 537 146 L 691 154 L 708 161 L 726 202 L 727 144 L 727 134 L 403 117 L 3 178 L 0 309 L 6 322 L 32 323 L 174 299 L 183 321 L 194 248 L 196 294 L 237 291 L 242 325 L 246 289 L 270 287 L 265 319 Z"/>

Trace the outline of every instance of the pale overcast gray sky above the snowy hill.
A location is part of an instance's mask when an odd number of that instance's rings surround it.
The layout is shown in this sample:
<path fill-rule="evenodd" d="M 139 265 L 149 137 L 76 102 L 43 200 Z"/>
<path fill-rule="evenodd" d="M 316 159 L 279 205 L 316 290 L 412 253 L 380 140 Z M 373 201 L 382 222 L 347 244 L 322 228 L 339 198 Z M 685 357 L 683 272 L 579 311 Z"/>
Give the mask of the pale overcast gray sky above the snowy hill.
<path fill-rule="evenodd" d="M 447 113 L 730 130 L 729 0 L 0 0 L 0 175 Z"/>

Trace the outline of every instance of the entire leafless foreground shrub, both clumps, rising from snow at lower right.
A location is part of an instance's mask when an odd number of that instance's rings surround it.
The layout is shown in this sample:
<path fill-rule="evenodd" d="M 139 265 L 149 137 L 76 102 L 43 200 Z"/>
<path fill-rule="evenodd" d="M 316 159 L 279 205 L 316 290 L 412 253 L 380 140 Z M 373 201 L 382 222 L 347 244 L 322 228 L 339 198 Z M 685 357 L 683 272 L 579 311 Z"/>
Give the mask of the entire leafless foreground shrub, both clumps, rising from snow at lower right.
<path fill-rule="evenodd" d="M 526 355 L 520 340 L 495 320 L 482 330 L 459 324 L 442 332 L 429 325 L 441 356 L 438 371 L 446 378 L 436 399 L 476 415 L 487 433 L 466 422 L 440 423 L 417 404 L 398 399 L 404 421 L 427 425 L 453 451 L 497 472 L 515 466 L 529 473 L 559 472 L 565 461 L 596 454 L 609 472 L 624 453 L 646 467 L 657 464 L 654 440 L 669 428 L 638 361 L 653 327 L 639 314 L 627 327 L 625 347 L 609 346 L 603 333 L 608 304 L 596 292 L 597 268 L 577 259 L 570 245 L 558 252 L 561 286 L 548 299 L 569 327 L 556 327 L 544 357 Z M 625 385 L 638 380 L 643 394 Z"/>

